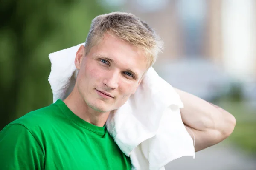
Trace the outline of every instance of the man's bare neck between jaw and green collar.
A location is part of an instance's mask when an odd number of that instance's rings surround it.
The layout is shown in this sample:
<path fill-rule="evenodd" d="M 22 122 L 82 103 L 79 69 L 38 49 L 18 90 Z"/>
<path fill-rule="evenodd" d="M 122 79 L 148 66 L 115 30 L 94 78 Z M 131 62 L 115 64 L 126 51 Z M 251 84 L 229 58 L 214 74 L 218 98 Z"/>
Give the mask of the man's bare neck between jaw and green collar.
<path fill-rule="evenodd" d="M 63 102 L 74 114 L 76 114 L 76 116 L 96 126 L 103 127 L 110 114 L 110 112 L 102 113 L 90 108 L 80 96 L 76 85 L 70 95 L 67 96 Z"/>

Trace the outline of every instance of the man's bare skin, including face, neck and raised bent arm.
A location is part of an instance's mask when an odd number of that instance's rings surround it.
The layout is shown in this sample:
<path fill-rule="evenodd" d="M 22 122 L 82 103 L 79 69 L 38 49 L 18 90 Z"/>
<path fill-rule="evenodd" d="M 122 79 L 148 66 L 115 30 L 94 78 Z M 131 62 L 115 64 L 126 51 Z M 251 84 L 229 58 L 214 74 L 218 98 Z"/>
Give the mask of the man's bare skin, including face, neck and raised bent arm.
<path fill-rule="evenodd" d="M 76 85 L 64 103 L 74 114 L 96 126 L 104 126 L 111 111 L 135 93 L 148 68 L 142 50 L 109 34 L 87 56 L 81 45 L 75 65 L 79 70 Z M 180 109 L 183 123 L 190 136 L 195 136 L 195 151 L 217 144 L 233 132 L 236 119 L 230 113 L 175 90 L 184 104 Z"/>

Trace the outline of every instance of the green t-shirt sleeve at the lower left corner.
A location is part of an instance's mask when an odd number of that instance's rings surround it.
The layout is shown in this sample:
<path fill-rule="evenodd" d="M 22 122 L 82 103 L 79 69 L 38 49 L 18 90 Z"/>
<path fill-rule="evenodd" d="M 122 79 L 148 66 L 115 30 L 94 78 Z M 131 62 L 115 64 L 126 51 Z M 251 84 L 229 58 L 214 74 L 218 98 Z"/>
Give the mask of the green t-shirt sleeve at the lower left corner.
<path fill-rule="evenodd" d="M 44 169 L 42 148 L 23 125 L 10 124 L 0 132 L 0 169 Z"/>

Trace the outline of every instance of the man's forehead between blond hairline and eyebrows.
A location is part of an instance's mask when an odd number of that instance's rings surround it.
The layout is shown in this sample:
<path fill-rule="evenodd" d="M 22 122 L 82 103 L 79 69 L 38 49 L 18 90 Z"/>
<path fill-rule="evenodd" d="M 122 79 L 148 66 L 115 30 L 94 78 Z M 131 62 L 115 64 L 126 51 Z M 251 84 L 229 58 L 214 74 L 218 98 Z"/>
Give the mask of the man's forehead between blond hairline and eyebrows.
<path fill-rule="evenodd" d="M 110 34 L 105 34 L 91 52 L 94 57 L 107 57 L 119 68 L 132 69 L 138 74 L 143 74 L 147 69 L 148 62 L 142 49 Z"/>

